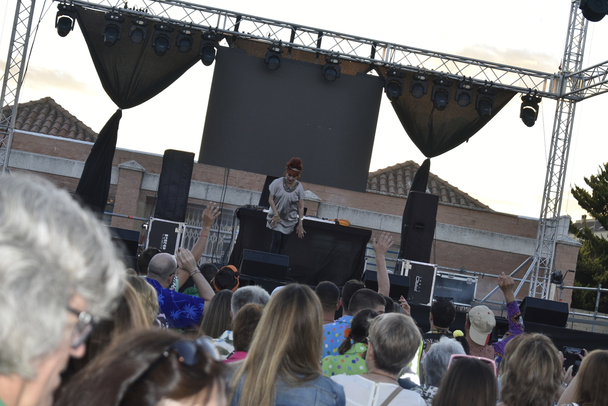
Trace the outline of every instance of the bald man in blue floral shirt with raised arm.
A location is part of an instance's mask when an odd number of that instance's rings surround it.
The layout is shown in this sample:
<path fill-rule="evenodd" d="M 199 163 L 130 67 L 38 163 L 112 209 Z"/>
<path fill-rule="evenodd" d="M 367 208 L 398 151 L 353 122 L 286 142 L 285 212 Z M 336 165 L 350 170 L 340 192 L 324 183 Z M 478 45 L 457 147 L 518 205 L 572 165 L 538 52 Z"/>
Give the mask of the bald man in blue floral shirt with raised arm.
<path fill-rule="evenodd" d="M 159 307 L 165 314 L 169 326 L 196 328 L 204 311 L 205 300 L 211 300 L 215 293 L 201 271 L 196 268 L 196 260 L 192 252 L 180 248 L 177 257 L 178 259 L 175 260 L 173 255 L 168 253 L 154 255 L 148 265 L 147 280 L 156 289 Z M 190 274 L 200 297 L 168 289 L 179 268 Z"/>

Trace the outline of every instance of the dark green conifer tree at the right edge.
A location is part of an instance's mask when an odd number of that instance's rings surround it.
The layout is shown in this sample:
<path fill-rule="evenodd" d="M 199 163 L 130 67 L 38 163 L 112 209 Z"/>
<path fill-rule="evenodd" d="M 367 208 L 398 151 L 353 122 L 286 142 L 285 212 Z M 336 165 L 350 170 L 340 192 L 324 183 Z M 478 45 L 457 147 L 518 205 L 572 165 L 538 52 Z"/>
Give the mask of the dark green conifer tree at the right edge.
<path fill-rule="evenodd" d="M 578 187 L 572 188 L 572 195 L 578 204 L 593 216 L 604 229 L 608 230 L 608 163 L 599 167 L 596 176 L 584 178 L 591 189 L 589 191 Z M 584 224 L 582 228 L 574 224 L 570 226 L 571 232 L 581 241 L 582 247 L 576 261 L 576 277 L 574 286 L 608 288 L 608 240 L 593 234 L 593 230 Z M 593 311 L 597 292 L 574 291 L 572 294 L 572 307 Z M 603 294 L 599 301 L 599 311 L 608 312 L 608 295 Z"/>

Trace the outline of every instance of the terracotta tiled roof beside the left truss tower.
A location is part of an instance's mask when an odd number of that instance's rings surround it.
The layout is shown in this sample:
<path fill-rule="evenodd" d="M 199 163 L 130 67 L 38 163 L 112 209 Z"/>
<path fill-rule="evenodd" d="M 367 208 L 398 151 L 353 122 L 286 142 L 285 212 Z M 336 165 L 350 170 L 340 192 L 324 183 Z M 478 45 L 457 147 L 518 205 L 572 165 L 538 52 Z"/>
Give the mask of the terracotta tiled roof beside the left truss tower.
<path fill-rule="evenodd" d="M 50 97 L 19 103 L 15 129 L 80 141 L 97 140 L 97 132 Z"/>

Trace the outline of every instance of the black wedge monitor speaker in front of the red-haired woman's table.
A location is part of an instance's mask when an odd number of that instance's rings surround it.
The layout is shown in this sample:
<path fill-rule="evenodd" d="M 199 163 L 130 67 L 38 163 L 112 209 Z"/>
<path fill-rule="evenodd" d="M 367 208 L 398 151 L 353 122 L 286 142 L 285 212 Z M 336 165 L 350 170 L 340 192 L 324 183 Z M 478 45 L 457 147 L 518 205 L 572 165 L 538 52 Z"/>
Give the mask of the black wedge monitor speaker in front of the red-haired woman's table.
<path fill-rule="evenodd" d="M 277 281 L 287 280 L 289 256 L 269 252 L 243 250 L 238 270 L 241 274 L 254 278 Z"/>

